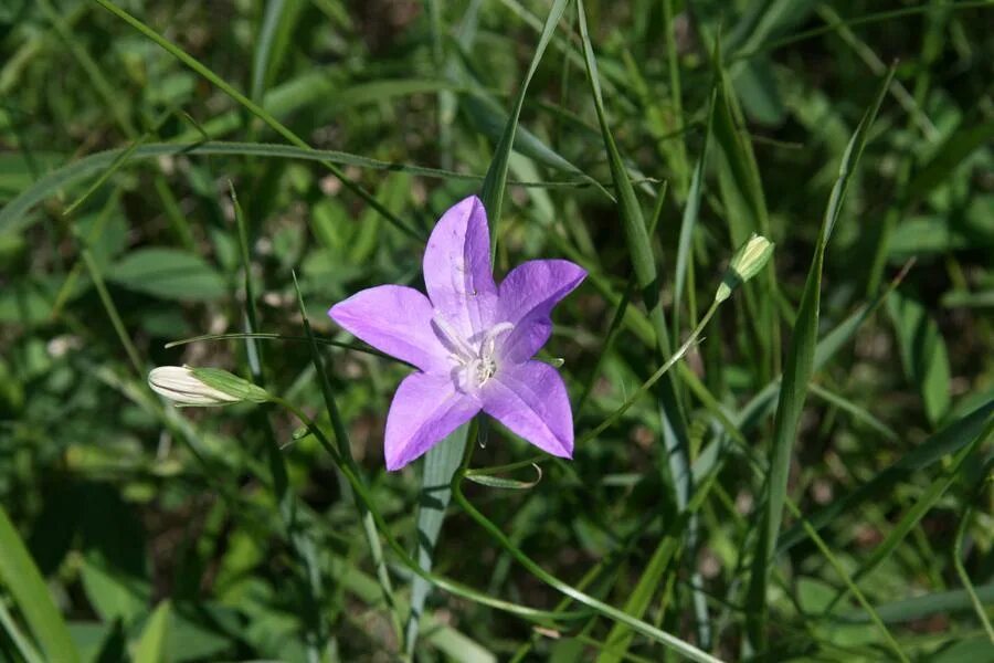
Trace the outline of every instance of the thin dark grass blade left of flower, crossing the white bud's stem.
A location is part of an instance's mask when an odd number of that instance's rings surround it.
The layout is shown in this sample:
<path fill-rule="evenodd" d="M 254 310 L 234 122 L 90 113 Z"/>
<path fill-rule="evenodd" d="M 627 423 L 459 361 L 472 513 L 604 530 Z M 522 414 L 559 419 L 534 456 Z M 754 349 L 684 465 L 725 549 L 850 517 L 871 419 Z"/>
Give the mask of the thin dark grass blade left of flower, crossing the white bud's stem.
<path fill-rule="evenodd" d="M 335 402 L 335 394 L 331 390 L 331 382 L 328 380 L 328 372 L 325 368 L 325 361 L 321 359 L 320 351 L 318 350 L 317 343 L 314 338 L 314 333 L 310 329 L 310 320 L 307 319 L 307 309 L 304 307 L 304 297 L 300 295 L 300 286 L 297 284 L 297 275 L 293 274 L 294 277 L 294 290 L 297 293 L 297 305 L 300 308 L 300 320 L 304 325 L 304 333 L 307 336 L 307 340 L 309 343 L 310 349 L 310 360 L 314 364 L 315 371 L 318 377 L 318 385 L 321 388 L 321 397 L 325 400 L 325 409 L 328 412 L 328 418 L 331 420 L 331 430 L 335 433 L 335 441 L 337 442 L 337 446 L 332 446 L 327 443 L 327 438 L 324 434 L 317 435 L 318 440 L 321 441 L 325 450 L 332 456 L 338 459 L 348 471 L 353 474 L 358 481 L 358 477 L 361 476 L 361 472 L 358 463 L 356 463 L 356 459 L 352 456 L 352 446 L 349 442 L 349 433 L 348 429 L 345 425 L 345 421 L 341 419 L 341 414 L 338 411 L 338 404 Z M 349 486 L 349 482 L 342 481 L 341 485 L 343 487 Z M 403 622 L 401 620 L 400 610 L 398 608 L 396 600 L 393 597 L 393 583 L 390 580 L 390 572 L 387 569 L 387 561 L 383 558 L 383 548 L 380 544 L 380 535 L 377 532 L 377 522 L 374 514 L 370 511 L 368 503 L 360 496 L 357 495 L 355 490 L 347 488 L 343 492 L 348 494 L 343 495 L 345 498 L 351 498 L 356 503 L 356 508 L 359 512 L 359 518 L 362 522 L 362 530 L 366 535 L 367 544 L 369 545 L 370 557 L 372 557 L 373 565 L 377 567 L 377 579 L 380 581 L 380 587 L 383 590 L 383 599 L 387 602 L 387 607 L 390 610 L 390 618 L 393 624 L 393 630 L 395 632 L 398 641 L 403 638 Z"/>

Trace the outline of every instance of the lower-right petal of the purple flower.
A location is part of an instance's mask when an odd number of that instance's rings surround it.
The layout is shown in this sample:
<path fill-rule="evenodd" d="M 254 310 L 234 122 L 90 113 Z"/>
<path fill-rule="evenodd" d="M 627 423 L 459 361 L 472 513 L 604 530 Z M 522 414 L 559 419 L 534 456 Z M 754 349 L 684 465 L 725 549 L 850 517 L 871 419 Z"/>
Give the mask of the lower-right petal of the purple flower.
<path fill-rule="evenodd" d="M 503 366 L 483 388 L 484 412 L 552 455 L 573 457 L 573 412 L 559 372 L 541 361 Z"/>

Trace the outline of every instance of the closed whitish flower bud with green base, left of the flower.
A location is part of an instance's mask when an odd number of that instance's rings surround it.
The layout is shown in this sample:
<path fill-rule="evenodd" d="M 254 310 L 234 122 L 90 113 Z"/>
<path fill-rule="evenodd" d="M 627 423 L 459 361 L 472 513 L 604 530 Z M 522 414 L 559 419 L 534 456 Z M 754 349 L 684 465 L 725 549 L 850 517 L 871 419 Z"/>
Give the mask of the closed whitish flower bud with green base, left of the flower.
<path fill-rule="evenodd" d="M 148 386 L 177 407 L 202 408 L 269 400 L 265 389 L 219 368 L 160 366 L 148 373 Z"/>

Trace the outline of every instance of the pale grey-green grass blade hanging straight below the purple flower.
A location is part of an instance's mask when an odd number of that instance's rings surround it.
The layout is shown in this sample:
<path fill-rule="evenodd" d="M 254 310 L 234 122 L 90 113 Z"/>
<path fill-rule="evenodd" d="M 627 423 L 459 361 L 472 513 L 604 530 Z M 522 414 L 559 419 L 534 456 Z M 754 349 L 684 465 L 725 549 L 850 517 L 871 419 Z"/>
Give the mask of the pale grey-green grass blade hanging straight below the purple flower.
<path fill-rule="evenodd" d="M 466 452 L 468 424 L 461 425 L 442 442 L 429 450 L 424 457 L 421 478 L 421 494 L 417 506 L 417 549 L 414 559 L 426 571 L 432 570 L 435 544 L 445 520 L 445 509 L 452 499 L 450 484 L 459 469 Z M 421 615 L 431 591 L 431 583 L 415 576 L 411 585 L 411 613 L 404 634 L 404 651 L 414 655 Z"/>

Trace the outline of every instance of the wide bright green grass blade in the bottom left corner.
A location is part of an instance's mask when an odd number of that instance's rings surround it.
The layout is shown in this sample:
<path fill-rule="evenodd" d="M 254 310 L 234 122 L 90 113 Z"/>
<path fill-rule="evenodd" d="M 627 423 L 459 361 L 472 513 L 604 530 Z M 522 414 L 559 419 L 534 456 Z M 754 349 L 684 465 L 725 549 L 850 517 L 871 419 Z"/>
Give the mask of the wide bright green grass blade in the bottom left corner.
<path fill-rule="evenodd" d="M 80 653 L 28 548 L 0 506 L 0 583 L 13 597 L 24 621 L 51 661 L 74 663 Z"/>

